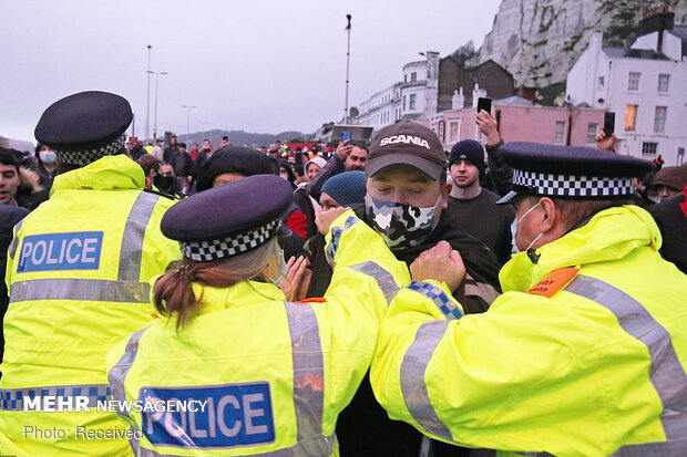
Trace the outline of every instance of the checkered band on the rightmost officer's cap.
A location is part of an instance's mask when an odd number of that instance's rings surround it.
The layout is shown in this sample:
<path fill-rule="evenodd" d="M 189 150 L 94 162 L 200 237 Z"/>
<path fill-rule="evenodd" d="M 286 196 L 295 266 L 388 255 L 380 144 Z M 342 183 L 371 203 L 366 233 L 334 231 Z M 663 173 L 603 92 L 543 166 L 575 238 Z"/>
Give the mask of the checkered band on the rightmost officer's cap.
<path fill-rule="evenodd" d="M 536 195 L 548 197 L 604 198 L 630 196 L 633 178 L 557 175 L 513 170 L 513 186 L 526 187 Z"/>

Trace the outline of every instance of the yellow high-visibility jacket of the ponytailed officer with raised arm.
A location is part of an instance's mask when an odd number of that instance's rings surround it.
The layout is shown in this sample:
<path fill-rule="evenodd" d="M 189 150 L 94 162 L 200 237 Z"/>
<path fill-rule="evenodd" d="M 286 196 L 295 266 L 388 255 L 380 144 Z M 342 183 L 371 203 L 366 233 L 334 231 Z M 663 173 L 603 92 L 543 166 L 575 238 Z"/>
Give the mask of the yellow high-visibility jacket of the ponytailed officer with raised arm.
<path fill-rule="evenodd" d="M 325 300 L 285 302 L 256 281 L 195 283 L 202 308 L 182 330 L 158 319 L 107 354 L 115 399 L 205 405 L 122 414 L 142 456 L 332 454 L 337 416 L 369 367 L 388 302 L 410 278 L 352 211 L 327 240 L 335 267 Z"/>

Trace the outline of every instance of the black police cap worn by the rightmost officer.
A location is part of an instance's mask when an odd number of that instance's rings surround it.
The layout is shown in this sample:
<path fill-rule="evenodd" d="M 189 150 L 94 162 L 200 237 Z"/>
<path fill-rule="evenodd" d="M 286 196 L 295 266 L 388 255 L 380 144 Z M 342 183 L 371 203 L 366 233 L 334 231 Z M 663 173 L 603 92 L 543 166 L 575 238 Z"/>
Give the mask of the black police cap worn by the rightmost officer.
<path fill-rule="evenodd" d="M 633 178 L 652 169 L 647 160 L 591 147 L 514 142 L 501 146 L 499 153 L 513 168 L 513 190 L 499 204 L 521 195 L 626 198 L 635 191 Z"/>

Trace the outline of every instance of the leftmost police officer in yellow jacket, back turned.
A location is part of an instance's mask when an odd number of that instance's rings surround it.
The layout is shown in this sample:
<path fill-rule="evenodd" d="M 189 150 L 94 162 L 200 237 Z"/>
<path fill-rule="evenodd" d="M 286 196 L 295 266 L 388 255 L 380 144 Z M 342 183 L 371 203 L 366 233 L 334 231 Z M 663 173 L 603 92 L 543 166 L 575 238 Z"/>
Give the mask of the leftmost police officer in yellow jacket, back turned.
<path fill-rule="evenodd" d="M 84 92 L 35 127 L 61 174 L 8 253 L 0 454 L 132 454 L 116 414 L 98 411 L 110 398 L 105 353 L 152 320 L 148 280 L 181 252 L 160 231 L 174 201 L 144 193 L 124 155 L 131 121 L 126 100 Z"/>

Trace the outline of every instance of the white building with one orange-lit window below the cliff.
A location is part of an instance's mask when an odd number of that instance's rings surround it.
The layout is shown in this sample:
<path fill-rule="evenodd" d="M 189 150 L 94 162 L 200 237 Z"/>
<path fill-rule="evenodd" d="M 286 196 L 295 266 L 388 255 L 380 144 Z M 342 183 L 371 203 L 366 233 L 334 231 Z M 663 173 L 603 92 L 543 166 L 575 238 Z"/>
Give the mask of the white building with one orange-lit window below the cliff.
<path fill-rule="evenodd" d="M 674 27 L 670 14 L 644 19 L 629 49 L 604 48 L 596 33 L 567 75 L 566 98 L 615 113 L 618 153 L 660 154 L 679 165 L 687 149 L 687 27 Z"/>

